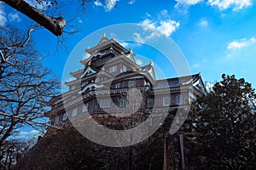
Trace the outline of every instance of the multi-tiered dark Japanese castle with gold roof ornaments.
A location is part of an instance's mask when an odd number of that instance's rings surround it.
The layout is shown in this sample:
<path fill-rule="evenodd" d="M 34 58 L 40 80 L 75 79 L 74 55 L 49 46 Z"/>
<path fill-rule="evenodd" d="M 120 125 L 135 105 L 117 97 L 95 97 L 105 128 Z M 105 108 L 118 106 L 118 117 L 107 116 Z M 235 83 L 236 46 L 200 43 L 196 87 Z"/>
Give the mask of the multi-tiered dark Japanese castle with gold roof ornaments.
<path fill-rule="evenodd" d="M 75 80 L 66 82 L 68 91 L 49 101 L 51 111 L 45 116 L 51 125 L 61 126 L 75 117 L 106 113 L 114 116 L 120 111 L 135 111 L 131 107 L 144 114 L 150 114 L 153 107 L 155 111 L 172 110 L 186 107 L 196 94 L 206 94 L 200 74 L 157 80 L 152 61 L 148 65 L 137 65 L 131 49 L 127 50 L 105 34 L 95 47 L 85 51 L 90 57 L 80 61 L 84 69 L 71 72 Z M 142 94 L 132 98 L 133 101 L 130 96 L 130 103 L 135 106 L 129 106 L 127 92 L 131 88 L 137 88 Z M 82 104 L 77 99 L 80 95 Z M 142 98 L 139 104 L 138 98 Z"/>

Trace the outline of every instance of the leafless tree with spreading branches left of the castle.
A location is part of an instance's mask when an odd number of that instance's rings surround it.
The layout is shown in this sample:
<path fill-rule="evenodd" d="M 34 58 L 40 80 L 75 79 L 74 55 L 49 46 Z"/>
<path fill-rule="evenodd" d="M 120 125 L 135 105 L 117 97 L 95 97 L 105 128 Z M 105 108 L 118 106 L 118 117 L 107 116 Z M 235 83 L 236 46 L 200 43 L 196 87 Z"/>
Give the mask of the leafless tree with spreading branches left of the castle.
<path fill-rule="evenodd" d="M 41 64 L 30 31 L 24 34 L 11 26 L 0 31 L 0 148 L 17 128 L 44 126 L 37 120 L 44 117 L 47 102 L 60 88 Z"/>

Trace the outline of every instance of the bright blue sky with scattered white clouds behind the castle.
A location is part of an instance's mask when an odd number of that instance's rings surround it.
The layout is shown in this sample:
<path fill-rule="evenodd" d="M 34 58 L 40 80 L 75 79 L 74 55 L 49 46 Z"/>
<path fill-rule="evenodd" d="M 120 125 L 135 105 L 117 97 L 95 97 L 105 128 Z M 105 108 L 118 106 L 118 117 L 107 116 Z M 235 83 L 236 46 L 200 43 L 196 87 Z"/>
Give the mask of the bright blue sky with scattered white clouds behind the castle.
<path fill-rule="evenodd" d="M 45 29 L 35 31 L 32 36 L 35 48 L 46 56 L 44 65 L 62 77 L 69 54 L 84 37 L 102 27 L 134 23 L 148 32 L 151 36 L 148 38 L 171 37 L 187 59 L 191 73 L 201 72 L 204 81 L 216 82 L 223 73 L 235 74 L 256 88 L 255 3 L 254 0 L 109 0 L 91 2 L 84 14 L 81 14 L 79 4 L 74 3 L 61 9 L 64 17 L 73 18 L 67 23 L 67 30 L 79 30 L 74 35 L 64 33 L 61 38 L 65 39 L 62 44 L 65 48 L 57 48 L 57 38 Z M 26 28 L 31 22 L 23 14 L 0 4 L 0 26 L 13 24 Z M 107 33 L 107 37 L 112 36 Z M 140 36 L 133 38 L 146 41 L 146 37 Z M 101 34 L 98 34 L 95 42 L 100 39 Z M 84 45 L 85 48 L 88 46 Z M 137 46 L 132 49 L 142 65 L 148 64 L 147 59 L 153 62 L 161 59 L 146 48 Z M 139 55 L 147 59 L 143 60 Z M 85 53 L 77 54 L 76 60 L 84 56 Z M 79 63 L 74 66 L 73 71 L 82 68 Z M 172 77 L 173 69 L 166 65 L 160 65 L 160 69 Z"/>

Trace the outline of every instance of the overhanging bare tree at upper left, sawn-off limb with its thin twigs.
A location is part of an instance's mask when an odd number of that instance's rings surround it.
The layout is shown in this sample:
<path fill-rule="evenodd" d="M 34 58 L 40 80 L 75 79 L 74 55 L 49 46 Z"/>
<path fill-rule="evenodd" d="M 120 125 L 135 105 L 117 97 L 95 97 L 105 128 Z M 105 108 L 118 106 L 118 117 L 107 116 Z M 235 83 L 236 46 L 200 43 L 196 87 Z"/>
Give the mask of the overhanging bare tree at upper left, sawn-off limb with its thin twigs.
<path fill-rule="evenodd" d="M 86 9 L 87 3 L 93 3 L 96 0 L 80 0 L 80 6 L 77 6 L 75 9 L 73 7 L 73 1 L 68 1 L 66 4 L 62 4 L 63 1 L 58 0 L 0 0 L 0 2 L 8 4 L 11 8 L 15 8 L 20 13 L 25 14 L 31 20 L 37 22 L 40 26 L 44 26 L 47 30 L 52 32 L 56 37 L 59 37 L 64 32 L 64 27 L 67 25 L 68 20 L 72 19 L 64 19 L 63 15 L 65 11 L 62 10 L 60 13 L 56 13 L 55 10 L 60 8 L 62 9 L 63 6 L 68 6 L 69 11 L 74 11 L 73 16 L 78 15 L 77 11 L 79 7 L 82 7 L 83 10 Z M 114 7 L 115 3 L 113 0 L 99 0 L 102 3 L 108 3 L 109 6 Z M 30 2 L 30 3 L 27 3 Z M 130 2 L 130 0 L 127 0 Z M 49 12 L 49 8 L 54 8 L 51 12 Z M 53 12 L 54 11 L 54 12 Z M 55 16 L 55 14 L 57 14 Z M 61 16 L 61 15 L 62 16 Z M 66 18 L 67 16 L 65 16 Z M 72 29 L 73 30 L 73 29 Z M 67 33 L 75 33 L 77 31 L 65 31 Z"/>

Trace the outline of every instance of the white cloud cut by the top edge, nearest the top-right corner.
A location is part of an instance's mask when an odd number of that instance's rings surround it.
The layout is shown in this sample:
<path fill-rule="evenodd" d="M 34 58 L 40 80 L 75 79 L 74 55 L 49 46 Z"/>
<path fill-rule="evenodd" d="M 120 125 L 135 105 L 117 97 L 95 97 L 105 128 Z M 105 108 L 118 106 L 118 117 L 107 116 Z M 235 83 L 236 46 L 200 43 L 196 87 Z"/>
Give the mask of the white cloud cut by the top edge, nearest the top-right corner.
<path fill-rule="evenodd" d="M 249 7 L 253 4 L 252 0 L 208 0 L 208 3 L 211 6 L 218 6 L 220 10 L 233 8 L 234 11 Z"/>

